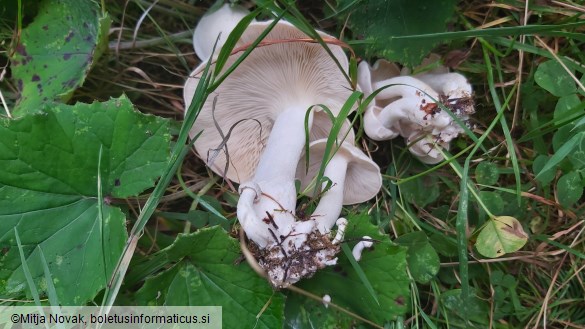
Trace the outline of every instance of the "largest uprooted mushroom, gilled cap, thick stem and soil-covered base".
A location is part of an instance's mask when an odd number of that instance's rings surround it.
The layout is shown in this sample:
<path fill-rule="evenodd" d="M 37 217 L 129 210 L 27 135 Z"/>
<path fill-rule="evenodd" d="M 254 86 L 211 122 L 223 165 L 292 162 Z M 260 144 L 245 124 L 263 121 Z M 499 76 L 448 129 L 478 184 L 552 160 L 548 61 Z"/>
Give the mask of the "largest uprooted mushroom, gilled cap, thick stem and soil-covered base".
<path fill-rule="evenodd" d="M 249 46 L 270 23 L 250 24 L 236 47 Z M 278 22 L 209 96 L 192 130 L 192 136 L 203 130 L 195 148 L 210 168 L 240 182 L 238 220 L 257 245 L 259 264 L 275 287 L 334 264 L 339 251 L 329 235 L 335 220 L 320 226 L 318 219 L 301 221 L 295 213 L 295 176 L 305 146 L 305 118 L 312 140 L 327 137 L 331 121 L 323 119 L 321 106 L 338 115 L 351 94 L 339 67 L 348 71 L 346 55 L 336 39 L 319 34 L 337 63 L 321 45 L 308 42 L 306 34 L 290 23 Z M 241 52 L 234 52 L 226 67 L 239 56 Z M 204 65 L 186 82 L 186 104 Z M 347 129 L 340 133 L 340 142 L 352 135 Z M 339 210 L 330 216 L 339 216 Z M 336 242 L 342 233 L 340 227 Z"/>

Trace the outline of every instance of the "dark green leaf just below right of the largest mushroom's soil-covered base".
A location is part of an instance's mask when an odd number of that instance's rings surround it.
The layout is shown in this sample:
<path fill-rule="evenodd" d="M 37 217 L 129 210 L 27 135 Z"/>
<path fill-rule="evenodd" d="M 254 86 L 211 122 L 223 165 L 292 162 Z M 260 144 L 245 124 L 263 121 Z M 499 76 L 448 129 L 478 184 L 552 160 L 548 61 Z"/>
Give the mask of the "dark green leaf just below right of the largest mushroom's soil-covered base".
<path fill-rule="evenodd" d="M 394 245 L 388 236 L 369 222 L 368 216 L 348 218 L 345 240 L 353 247 L 358 239 L 369 236 L 379 242 L 364 250 L 358 262 L 374 288 L 379 304 L 368 292 L 349 260 L 342 253 L 337 265 L 318 271 L 298 286 L 318 296 L 329 295 L 331 302 L 380 325 L 403 315 L 410 305 L 409 278 L 406 272 L 406 248 Z"/>

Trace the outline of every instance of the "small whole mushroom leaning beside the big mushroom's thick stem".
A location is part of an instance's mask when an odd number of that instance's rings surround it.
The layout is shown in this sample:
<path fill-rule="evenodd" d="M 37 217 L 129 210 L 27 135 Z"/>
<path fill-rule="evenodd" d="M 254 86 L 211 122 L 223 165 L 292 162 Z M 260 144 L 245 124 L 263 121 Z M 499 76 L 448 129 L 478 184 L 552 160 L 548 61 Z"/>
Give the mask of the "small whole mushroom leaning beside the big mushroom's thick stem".
<path fill-rule="evenodd" d="M 297 167 L 297 177 L 301 181 L 301 188 L 309 186 L 317 176 L 323 161 L 327 160 L 325 148 L 327 139 L 312 142 L 309 145 L 309 166 L 306 167 L 304 157 L 301 157 Z M 325 191 L 328 182 L 323 182 L 323 194 L 311 218 L 317 222 L 319 232 L 329 233 L 341 213 L 342 205 L 365 202 L 373 198 L 382 186 L 380 167 L 368 158 L 360 149 L 349 142 L 334 145 L 335 152 L 324 170 L 324 176 L 331 182 Z"/>

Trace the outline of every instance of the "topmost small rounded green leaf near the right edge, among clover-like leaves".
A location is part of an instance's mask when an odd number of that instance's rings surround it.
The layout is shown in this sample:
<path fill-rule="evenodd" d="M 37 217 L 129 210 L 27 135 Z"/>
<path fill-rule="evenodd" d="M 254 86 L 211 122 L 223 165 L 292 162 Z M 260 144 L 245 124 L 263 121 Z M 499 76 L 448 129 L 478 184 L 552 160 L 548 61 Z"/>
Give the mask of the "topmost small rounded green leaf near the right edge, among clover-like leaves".
<path fill-rule="evenodd" d="M 574 94 L 577 91 L 577 85 L 573 78 L 555 60 L 549 60 L 538 65 L 534 73 L 534 80 L 543 89 L 557 97 Z"/>

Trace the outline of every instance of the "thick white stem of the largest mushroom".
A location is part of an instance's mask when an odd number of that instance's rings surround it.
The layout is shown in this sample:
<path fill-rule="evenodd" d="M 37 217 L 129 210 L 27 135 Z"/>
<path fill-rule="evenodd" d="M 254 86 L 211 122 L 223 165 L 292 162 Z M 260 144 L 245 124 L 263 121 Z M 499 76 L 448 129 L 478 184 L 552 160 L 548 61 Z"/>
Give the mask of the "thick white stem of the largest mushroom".
<path fill-rule="evenodd" d="M 281 237 L 288 237 L 291 233 L 306 235 L 312 231 L 311 225 L 296 225 L 294 216 L 294 178 L 296 164 L 305 145 L 306 108 L 308 106 L 293 106 L 278 116 L 254 177 L 240 186 L 238 220 L 248 237 L 261 248 L 281 244 Z M 309 128 L 311 123 L 312 114 L 309 114 Z M 258 191 L 254 186 L 258 186 Z M 256 198 L 253 198 L 254 195 Z M 298 247 L 305 239 L 306 236 L 295 237 L 292 245 Z M 292 245 L 284 243 L 283 248 L 288 250 Z"/>

